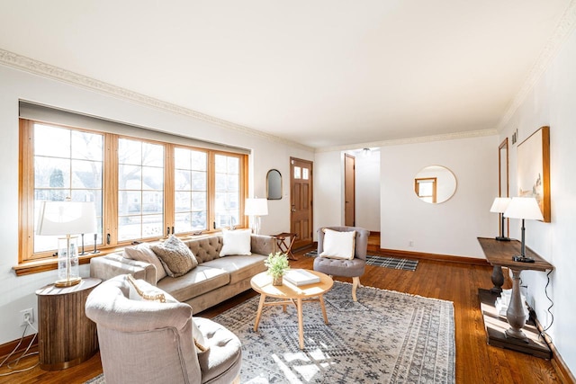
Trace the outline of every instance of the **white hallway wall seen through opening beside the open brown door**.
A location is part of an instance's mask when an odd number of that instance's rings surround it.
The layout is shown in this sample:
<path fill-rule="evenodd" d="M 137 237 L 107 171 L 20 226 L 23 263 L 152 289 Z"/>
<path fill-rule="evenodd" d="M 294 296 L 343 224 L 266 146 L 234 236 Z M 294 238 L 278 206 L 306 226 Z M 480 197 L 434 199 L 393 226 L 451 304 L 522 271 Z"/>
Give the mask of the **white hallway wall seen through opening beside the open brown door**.
<path fill-rule="evenodd" d="M 380 151 L 356 154 L 356 226 L 380 232 Z"/>

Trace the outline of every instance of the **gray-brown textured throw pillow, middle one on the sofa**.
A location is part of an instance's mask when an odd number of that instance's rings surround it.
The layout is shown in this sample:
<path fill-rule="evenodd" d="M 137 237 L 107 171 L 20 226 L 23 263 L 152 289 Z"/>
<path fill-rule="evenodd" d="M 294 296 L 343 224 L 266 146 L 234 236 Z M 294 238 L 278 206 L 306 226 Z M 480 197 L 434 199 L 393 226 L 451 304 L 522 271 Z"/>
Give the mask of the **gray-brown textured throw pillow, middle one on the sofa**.
<path fill-rule="evenodd" d="M 164 265 L 168 276 L 182 276 L 198 265 L 190 248 L 178 237 L 168 237 L 165 242 L 150 246 L 150 248 Z"/>

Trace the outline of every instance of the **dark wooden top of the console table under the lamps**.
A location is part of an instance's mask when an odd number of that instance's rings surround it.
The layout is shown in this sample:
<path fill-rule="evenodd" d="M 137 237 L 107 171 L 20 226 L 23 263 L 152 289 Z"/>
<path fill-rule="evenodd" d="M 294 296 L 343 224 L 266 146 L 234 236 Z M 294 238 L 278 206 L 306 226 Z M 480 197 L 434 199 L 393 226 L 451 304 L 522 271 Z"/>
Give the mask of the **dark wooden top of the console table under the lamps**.
<path fill-rule="evenodd" d="M 554 270 L 554 265 L 548 263 L 532 249 L 526 247 L 527 257 L 532 257 L 534 263 L 521 263 L 512 260 L 512 256 L 520 255 L 522 246 L 518 240 L 498 241 L 493 237 L 478 237 L 484 255 L 488 263 L 499 265 L 515 270 L 549 271 Z"/>

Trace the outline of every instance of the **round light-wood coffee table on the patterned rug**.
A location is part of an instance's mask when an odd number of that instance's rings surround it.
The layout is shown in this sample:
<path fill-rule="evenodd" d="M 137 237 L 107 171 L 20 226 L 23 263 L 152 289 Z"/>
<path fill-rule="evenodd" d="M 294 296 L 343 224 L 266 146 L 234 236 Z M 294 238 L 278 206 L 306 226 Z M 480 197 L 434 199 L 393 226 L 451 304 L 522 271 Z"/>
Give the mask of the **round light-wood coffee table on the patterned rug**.
<path fill-rule="evenodd" d="M 284 280 L 283 285 L 276 286 L 272 285 L 272 276 L 267 275 L 266 272 L 260 272 L 252 278 L 250 285 L 252 285 L 254 290 L 260 293 L 260 304 L 258 305 L 256 321 L 254 322 L 255 332 L 258 330 L 258 324 L 260 323 L 260 317 L 262 316 L 262 308 L 265 306 L 281 305 L 284 307 L 285 312 L 286 305 L 293 304 L 296 306 L 296 310 L 298 311 L 298 338 L 300 342 L 300 349 L 304 349 L 304 324 L 302 317 L 303 301 L 320 301 L 320 308 L 322 308 L 324 323 L 329 324 L 328 316 L 326 315 L 326 307 L 324 306 L 323 295 L 332 288 L 334 281 L 332 281 L 332 278 L 330 278 L 327 274 L 311 270 L 306 271 L 320 277 L 320 282 L 297 287 L 292 283 Z M 284 300 L 266 302 L 266 297 Z"/>

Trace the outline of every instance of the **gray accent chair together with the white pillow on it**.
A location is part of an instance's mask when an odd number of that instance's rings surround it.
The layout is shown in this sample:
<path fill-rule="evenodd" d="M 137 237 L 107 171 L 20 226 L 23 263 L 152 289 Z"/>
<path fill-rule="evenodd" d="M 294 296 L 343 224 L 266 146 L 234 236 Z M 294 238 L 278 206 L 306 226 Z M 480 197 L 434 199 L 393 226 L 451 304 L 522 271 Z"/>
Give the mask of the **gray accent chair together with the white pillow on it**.
<path fill-rule="evenodd" d="M 324 227 L 318 229 L 318 257 L 314 271 L 330 276 L 352 278 L 352 299 L 365 272 L 370 231 L 359 227 Z"/>

